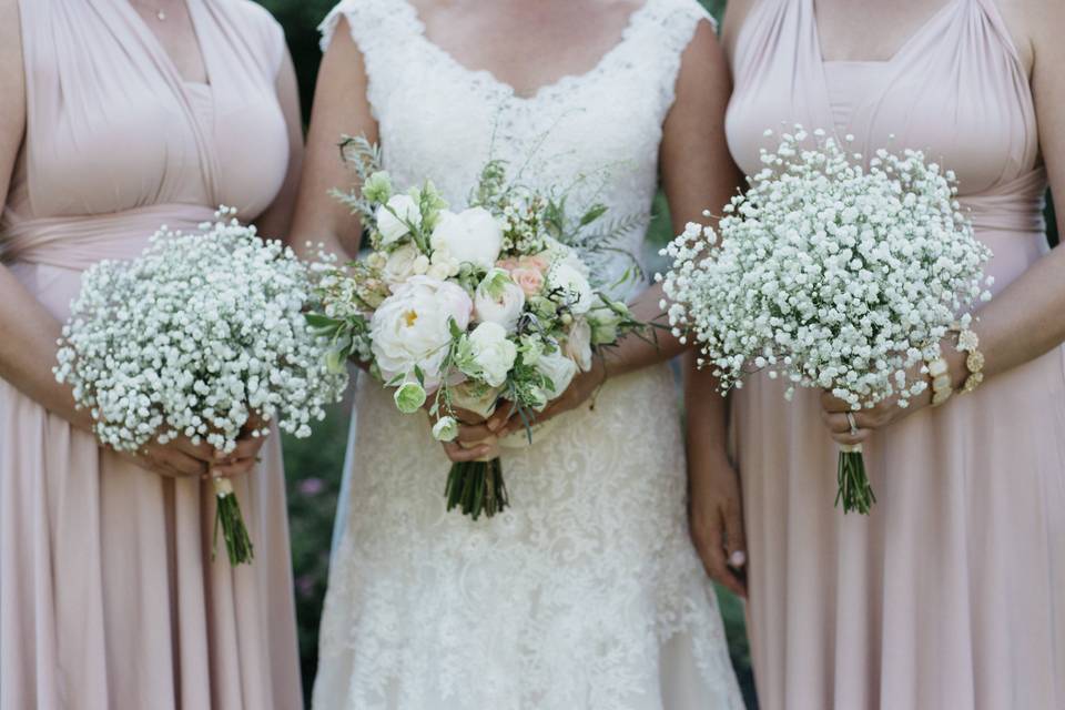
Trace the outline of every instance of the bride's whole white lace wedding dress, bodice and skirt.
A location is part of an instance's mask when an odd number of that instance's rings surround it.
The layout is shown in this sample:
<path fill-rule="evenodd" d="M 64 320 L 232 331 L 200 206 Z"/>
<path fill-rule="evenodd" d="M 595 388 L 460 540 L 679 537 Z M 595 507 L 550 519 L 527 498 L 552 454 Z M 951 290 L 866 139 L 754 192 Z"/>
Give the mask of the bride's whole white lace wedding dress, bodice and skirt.
<path fill-rule="evenodd" d="M 430 178 L 462 206 L 489 156 L 514 170 L 532 156 L 525 181 L 545 185 L 609 165 L 588 189 L 615 215 L 638 215 L 625 246 L 640 253 L 680 57 L 710 21 L 696 0 L 647 0 L 594 70 L 531 98 L 458 64 L 405 0 L 342 2 L 324 43 L 341 17 L 364 54 L 397 184 Z M 400 415 L 372 382 L 357 408 L 314 708 L 742 708 L 688 536 L 668 366 L 610 381 L 594 409 L 505 452 L 511 507 L 478 521 L 445 511 L 449 464 L 425 418 Z"/>

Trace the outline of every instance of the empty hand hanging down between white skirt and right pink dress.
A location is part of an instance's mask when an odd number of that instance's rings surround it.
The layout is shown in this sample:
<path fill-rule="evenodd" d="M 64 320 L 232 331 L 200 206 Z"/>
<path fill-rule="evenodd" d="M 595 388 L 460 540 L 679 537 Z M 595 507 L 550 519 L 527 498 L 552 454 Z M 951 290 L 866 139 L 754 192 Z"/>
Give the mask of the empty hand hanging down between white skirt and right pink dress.
<path fill-rule="evenodd" d="M 691 539 L 707 574 L 741 597 L 747 597 L 747 540 L 740 477 L 724 458 L 689 471 Z"/>

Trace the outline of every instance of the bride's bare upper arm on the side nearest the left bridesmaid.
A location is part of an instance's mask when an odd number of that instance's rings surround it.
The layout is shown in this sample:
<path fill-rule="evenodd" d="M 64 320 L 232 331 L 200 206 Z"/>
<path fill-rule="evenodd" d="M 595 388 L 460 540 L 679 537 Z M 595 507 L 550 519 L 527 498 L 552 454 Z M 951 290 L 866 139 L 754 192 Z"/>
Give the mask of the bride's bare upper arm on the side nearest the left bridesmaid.
<path fill-rule="evenodd" d="M 352 174 L 341 161 L 341 136 L 365 134 L 377 141 L 367 83 L 363 54 L 352 40 L 347 20 L 342 19 L 322 60 L 315 89 L 307 160 L 292 229 L 292 245 L 297 251 L 312 242 L 342 256 L 358 253 L 362 224 L 329 191 L 352 184 Z"/>

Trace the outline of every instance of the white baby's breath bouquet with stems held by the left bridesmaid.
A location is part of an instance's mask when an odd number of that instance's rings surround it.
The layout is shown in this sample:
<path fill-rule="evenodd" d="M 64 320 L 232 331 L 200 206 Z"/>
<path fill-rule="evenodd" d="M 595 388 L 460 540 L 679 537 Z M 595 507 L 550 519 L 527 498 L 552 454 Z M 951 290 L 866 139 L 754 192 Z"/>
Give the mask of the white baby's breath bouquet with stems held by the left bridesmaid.
<path fill-rule="evenodd" d="M 54 372 L 115 450 L 186 436 L 229 453 L 273 419 L 306 437 L 346 387 L 303 314 L 306 265 L 231 216 L 223 209 L 202 234 L 163 227 L 139 258 L 84 274 Z M 233 488 L 226 478 L 214 487 L 215 541 L 221 527 L 231 564 L 250 562 Z"/>

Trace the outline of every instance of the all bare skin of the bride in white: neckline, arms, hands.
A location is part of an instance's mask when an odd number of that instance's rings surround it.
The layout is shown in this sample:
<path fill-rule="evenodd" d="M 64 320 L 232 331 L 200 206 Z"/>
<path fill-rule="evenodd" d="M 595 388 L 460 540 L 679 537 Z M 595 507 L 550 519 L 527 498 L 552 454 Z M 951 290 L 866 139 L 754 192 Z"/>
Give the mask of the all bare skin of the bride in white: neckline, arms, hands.
<path fill-rule="evenodd" d="M 562 75 L 591 69 L 618 42 L 629 16 L 640 7 L 639 2 L 622 0 L 420 0 L 414 4 L 434 42 L 464 65 L 490 71 L 521 95 L 530 95 Z M 310 241 L 344 257 L 357 253 L 362 226 L 329 197 L 328 191 L 351 182 L 337 160 L 337 138 L 362 133 L 371 141 L 377 140 L 378 126 L 366 99 L 366 84 L 362 54 L 342 20 L 318 78 L 293 229 L 292 243 L 297 248 Z M 662 181 L 678 232 L 687 222 L 702 220 L 707 206 L 723 204 L 739 183 L 724 143 L 730 89 L 724 55 L 709 23 L 702 23 L 683 54 L 677 102 L 663 126 Z M 649 288 L 632 311 L 642 321 L 659 320 L 660 300 L 661 290 Z M 597 361 L 591 372 L 575 378 L 540 419 L 586 405 L 605 381 L 661 363 L 683 349 L 668 333 L 661 334 L 658 347 L 628 338 L 607 359 Z M 704 377 L 691 375 L 692 381 Z M 739 486 L 724 450 L 724 403 L 720 397 L 707 399 L 697 408 L 690 449 L 696 462 L 713 460 L 716 466 L 693 469 L 698 473 L 691 479 L 692 530 L 708 570 L 742 591 L 739 578 L 726 565 L 731 550 L 722 544 L 728 519 L 730 545 L 742 547 Z M 464 426 L 458 442 L 445 445 L 447 455 L 455 462 L 494 455 L 495 438 L 520 426 L 507 422 L 507 414 L 509 410 L 503 408 L 487 423 Z"/>

